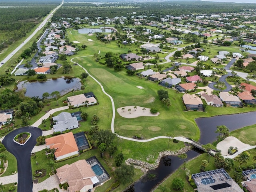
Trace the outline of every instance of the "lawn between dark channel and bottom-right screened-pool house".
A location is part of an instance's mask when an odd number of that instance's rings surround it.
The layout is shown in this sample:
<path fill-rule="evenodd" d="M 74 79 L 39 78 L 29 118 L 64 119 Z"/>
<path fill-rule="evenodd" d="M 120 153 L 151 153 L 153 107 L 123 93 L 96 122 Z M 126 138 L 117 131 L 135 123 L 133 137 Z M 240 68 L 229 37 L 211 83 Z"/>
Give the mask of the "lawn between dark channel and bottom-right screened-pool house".
<path fill-rule="evenodd" d="M 201 155 L 197 156 L 196 158 L 194 158 L 193 160 L 190 160 L 188 162 L 188 169 L 190 170 L 190 174 L 200 172 L 200 165 L 201 165 L 202 160 L 208 160 L 208 154 L 206 154 L 206 153 L 201 154 Z M 214 169 L 216 169 L 216 167 L 214 165 L 214 158 L 212 156 L 210 156 L 210 162 L 209 162 L 209 165 L 206 168 L 206 170 L 214 170 Z M 184 189 L 180 190 L 180 192 L 194 191 L 193 188 L 190 186 L 190 184 L 187 181 L 186 173 L 184 171 L 184 166 L 182 166 L 182 165 L 172 175 L 170 175 L 161 185 L 162 186 L 166 185 L 168 188 L 171 189 L 171 192 L 177 192 L 176 190 L 172 189 L 172 180 L 176 177 L 182 178 L 182 180 L 185 183 Z M 160 192 L 160 191 L 161 190 L 159 190 L 159 189 L 155 190 L 155 192 Z"/>

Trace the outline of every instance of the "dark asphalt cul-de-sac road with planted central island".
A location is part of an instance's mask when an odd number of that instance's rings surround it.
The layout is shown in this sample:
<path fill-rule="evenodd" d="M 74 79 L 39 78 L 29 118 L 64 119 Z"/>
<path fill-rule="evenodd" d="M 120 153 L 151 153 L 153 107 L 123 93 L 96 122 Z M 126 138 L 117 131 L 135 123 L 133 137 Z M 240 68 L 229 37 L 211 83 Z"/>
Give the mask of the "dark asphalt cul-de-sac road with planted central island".
<path fill-rule="evenodd" d="M 17 134 L 29 132 L 31 138 L 24 145 L 19 145 L 13 141 Z M 2 143 L 7 151 L 13 154 L 18 164 L 18 192 L 32 192 L 33 178 L 31 170 L 30 156 L 32 149 L 36 145 L 36 138 L 42 135 L 42 130 L 37 127 L 18 128 L 4 137 Z"/>

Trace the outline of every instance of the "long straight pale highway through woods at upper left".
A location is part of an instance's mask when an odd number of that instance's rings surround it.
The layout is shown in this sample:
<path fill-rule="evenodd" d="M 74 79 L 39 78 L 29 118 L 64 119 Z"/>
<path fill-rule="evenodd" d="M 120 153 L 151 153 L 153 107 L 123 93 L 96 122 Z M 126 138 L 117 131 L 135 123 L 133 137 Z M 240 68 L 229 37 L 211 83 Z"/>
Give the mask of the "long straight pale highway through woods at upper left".
<path fill-rule="evenodd" d="M 36 28 L 34 30 L 34 32 L 26 39 L 24 40 L 24 42 L 22 42 L 22 44 L 20 44 L 14 51 L 12 51 L 6 58 L 4 58 L 0 63 L 6 63 L 10 58 L 12 58 L 12 56 L 14 54 L 16 54 L 27 42 L 29 42 L 32 37 L 34 37 L 36 35 L 36 33 L 41 30 L 45 24 L 50 20 L 50 18 L 52 17 L 53 13 L 62 6 L 62 4 L 64 3 L 64 0 L 62 0 L 61 4 L 56 7 L 50 14 L 48 14 L 48 16 L 44 19 L 44 21 L 40 24 L 40 26 L 38 26 L 38 28 Z M 2 67 L 4 64 L 0 64 L 0 67 Z"/>

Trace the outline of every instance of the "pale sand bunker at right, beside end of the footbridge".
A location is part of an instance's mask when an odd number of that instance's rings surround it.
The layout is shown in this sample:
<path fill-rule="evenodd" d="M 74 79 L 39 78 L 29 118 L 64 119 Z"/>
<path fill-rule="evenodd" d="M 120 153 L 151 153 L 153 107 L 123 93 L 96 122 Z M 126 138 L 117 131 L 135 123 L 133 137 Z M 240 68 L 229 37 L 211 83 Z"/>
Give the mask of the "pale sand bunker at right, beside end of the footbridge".
<path fill-rule="evenodd" d="M 230 156 L 230 154 L 228 154 L 228 149 L 230 148 L 230 146 L 234 148 L 237 147 L 238 151 L 250 147 L 250 145 L 245 144 L 238 140 L 237 138 L 230 136 L 225 138 L 223 141 L 219 142 L 216 148 L 218 150 L 221 150 L 221 154 L 223 156 Z"/>

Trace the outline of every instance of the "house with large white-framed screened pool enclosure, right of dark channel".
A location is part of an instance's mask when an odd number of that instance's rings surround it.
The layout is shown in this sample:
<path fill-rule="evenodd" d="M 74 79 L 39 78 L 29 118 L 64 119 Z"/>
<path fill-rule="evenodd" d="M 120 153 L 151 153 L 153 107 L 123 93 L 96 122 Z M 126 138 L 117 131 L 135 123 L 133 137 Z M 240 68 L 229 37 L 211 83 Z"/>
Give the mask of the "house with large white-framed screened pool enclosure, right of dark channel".
<path fill-rule="evenodd" d="M 192 174 L 198 192 L 243 192 L 223 169 Z"/>

